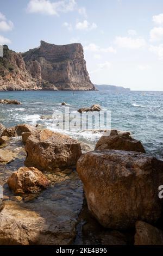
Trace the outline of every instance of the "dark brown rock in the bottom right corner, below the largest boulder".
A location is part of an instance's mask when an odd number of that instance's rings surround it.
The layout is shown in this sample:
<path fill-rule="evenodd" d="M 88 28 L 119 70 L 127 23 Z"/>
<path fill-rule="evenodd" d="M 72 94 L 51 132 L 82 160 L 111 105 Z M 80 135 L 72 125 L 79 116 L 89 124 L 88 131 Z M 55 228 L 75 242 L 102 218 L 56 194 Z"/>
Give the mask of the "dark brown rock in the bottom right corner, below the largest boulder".
<path fill-rule="evenodd" d="M 137 221 L 134 245 L 163 245 L 163 232 L 148 223 Z"/>

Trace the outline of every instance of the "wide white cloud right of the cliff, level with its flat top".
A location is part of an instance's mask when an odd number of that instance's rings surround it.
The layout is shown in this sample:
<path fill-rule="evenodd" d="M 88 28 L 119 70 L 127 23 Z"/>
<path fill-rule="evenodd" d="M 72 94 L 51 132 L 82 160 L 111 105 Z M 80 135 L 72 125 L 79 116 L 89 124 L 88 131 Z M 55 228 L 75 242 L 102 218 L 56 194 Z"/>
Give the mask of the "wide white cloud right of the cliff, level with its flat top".
<path fill-rule="evenodd" d="M 133 39 L 127 36 L 116 36 L 115 44 L 121 48 L 139 49 L 146 45 L 146 41 L 143 38 Z"/>

